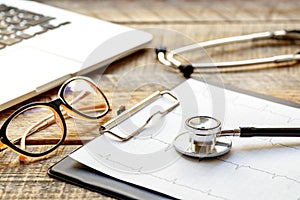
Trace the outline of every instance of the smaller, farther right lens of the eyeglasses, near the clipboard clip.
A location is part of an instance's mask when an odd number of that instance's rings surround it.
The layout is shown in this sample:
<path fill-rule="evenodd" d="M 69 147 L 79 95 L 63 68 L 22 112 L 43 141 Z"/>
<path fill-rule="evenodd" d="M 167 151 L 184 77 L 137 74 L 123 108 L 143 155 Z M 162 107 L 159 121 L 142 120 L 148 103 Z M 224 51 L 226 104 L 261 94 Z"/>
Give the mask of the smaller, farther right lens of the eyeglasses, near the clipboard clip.
<path fill-rule="evenodd" d="M 100 116 L 107 109 L 99 89 L 84 79 L 71 81 L 63 91 L 63 98 L 73 109 L 90 117 Z"/>

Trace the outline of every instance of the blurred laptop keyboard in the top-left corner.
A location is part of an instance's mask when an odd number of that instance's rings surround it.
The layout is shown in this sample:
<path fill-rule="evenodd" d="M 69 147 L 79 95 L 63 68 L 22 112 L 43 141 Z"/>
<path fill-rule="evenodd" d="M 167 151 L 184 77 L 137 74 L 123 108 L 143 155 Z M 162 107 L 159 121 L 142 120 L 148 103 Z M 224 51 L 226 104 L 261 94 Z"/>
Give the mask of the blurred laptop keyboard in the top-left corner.
<path fill-rule="evenodd" d="M 69 23 L 0 4 L 0 49 Z"/>

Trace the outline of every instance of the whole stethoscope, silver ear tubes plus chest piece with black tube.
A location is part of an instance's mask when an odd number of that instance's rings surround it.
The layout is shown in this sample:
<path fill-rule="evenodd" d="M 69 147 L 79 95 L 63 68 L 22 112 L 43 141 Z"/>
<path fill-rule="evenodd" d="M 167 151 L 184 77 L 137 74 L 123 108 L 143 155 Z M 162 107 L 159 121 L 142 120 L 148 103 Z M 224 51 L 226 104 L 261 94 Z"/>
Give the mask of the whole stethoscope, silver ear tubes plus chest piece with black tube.
<path fill-rule="evenodd" d="M 300 30 L 279 30 L 274 32 L 262 32 L 249 35 L 221 38 L 197 44 L 183 46 L 171 51 L 166 48 L 156 49 L 157 59 L 160 63 L 178 69 L 188 78 L 195 69 L 216 69 L 256 65 L 265 63 L 283 63 L 299 61 L 300 52 L 285 54 L 268 58 L 258 58 L 241 61 L 228 61 L 217 63 L 181 63 L 175 56 L 200 48 L 208 48 L 224 45 L 232 42 L 245 42 L 261 39 L 296 40 L 300 39 Z M 221 122 L 209 116 L 195 116 L 186 120 L 187 131 L 178 135 L 174 140 L 175 149 L 187 156 L 197 158 L 217 157 L 231 150 L 232 142 L 225 136 L 239 137 L 299 137 L 300 128 L 255 128 L 240 127 L 234 130 L 221 130 Z"/>

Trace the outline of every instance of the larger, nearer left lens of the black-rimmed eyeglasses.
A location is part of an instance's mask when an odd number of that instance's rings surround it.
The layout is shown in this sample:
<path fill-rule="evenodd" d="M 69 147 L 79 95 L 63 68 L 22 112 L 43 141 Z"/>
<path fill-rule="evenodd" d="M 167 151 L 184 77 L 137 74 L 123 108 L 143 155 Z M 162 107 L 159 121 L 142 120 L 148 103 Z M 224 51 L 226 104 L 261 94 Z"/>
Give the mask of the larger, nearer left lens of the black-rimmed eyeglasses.
<path fill-rule="evenodd" d="M 32 106 L 23 110 L 10 121 L 6 129 L 6 136 L 12 144 L 32 154 L 54 148 L 63 134 L 61 119 L 48 106 Z"/>

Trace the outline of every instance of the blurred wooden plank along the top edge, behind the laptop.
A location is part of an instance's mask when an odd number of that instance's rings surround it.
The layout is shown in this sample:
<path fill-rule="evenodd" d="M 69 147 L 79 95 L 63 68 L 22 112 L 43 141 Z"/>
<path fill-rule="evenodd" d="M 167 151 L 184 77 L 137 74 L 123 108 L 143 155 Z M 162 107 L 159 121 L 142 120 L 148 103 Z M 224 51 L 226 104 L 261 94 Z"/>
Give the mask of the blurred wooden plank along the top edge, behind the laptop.
<path fill-rule="evenodd" d="M 42 1 L 116 23 L 299 21 L 300 2 L 290 1 Z"/>

